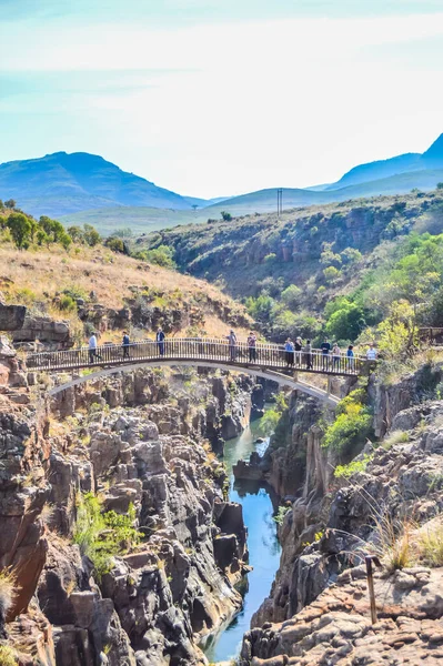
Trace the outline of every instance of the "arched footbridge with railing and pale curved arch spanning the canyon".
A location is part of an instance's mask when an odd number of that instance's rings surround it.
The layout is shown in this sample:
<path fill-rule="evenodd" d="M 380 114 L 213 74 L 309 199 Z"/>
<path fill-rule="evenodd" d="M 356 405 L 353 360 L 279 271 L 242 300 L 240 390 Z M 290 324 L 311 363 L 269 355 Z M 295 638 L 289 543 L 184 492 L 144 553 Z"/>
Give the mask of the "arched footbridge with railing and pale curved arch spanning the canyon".
<path fill-rule="evenodd" d="M 359 376 L 368 366 L 360 356 L 332 356 L 320 350 L 288 353 L 276 344 L 258 343 L 251 349 L 246 342 L 230 345 L 228 340 L 209 337 L 171 337 L 163 343 L 142 341 L 128 346 L 103 344 L 97 350 L 82 347 L 60 352 L 41 352 L 27 355 L 29 371 L 72 373 L 74 379 L 60 383 L 49 391 L 54 395 L 71 386 L 93 381 L 119 371 L 132 371 L 149 365 L 195 365 L 207 369 L 236 370 L 272 380 L 281 385 L 302 391 L 330 406 L 339 398 L 299 379 L 299 372 L 331 376 Z M 88 369 L 88 373 L 81 371 Z M 93 371 L 91 373 L 91 371 Z"/>

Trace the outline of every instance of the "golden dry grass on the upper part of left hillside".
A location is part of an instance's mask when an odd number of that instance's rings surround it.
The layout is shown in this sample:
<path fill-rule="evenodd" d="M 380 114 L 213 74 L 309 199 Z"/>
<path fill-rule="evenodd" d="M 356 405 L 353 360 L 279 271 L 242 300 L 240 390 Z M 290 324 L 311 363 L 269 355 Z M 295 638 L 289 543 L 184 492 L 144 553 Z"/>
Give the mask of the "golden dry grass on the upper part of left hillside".
<path fill-rule="evenodd" d="M 75 286 L 89 294 L 97 293 L 99 303 L 113 309 L 122 307 L 124 299 L 134 291 L 158 289 L 171 294 L 180 302 L 193 300 L 207 310 L 204 329 L 208 335 L 225 335 L 229 325 L 205 305 L 208 297 L 233 311 L 244 309 L 203 280 L 182 275 L 175 271 L 148 265 L 122 254 L 110 252 L 104 246 L 72 248 L 68 253 L 58 245 L 20 252 L 8 243 L 0 245 L 0 291 L 8 302 L 31 305 L 44 302 L 48 313 L 56 319 L 69 320 L 79 327 L 77 313 L 60 311 L 50 304 L 56 293 Z M 12 281 L 12 282 L 10 282 Z M 131 287 L 131 289 L 130 289 Z M 245 336 L 245 329 L 239 330 Z"/>

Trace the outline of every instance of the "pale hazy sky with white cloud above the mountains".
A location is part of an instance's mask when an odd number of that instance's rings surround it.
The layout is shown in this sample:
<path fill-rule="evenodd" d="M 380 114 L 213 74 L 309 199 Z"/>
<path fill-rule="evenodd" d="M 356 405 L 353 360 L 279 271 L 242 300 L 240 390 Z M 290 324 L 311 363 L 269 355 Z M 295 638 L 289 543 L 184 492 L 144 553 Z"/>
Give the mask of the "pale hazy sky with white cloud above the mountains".
<path fill-rule="evenodd" d="M 331 182 L 443 132 L 441 0 L 0 0 L 0 161 L 194 196 Z"/>

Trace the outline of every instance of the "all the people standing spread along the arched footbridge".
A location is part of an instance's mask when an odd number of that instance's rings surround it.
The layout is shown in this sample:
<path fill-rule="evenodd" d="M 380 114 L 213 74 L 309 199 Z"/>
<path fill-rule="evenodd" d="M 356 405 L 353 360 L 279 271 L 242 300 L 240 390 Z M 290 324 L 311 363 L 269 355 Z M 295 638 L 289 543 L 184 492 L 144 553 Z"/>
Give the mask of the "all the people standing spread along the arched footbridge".
<path fill-rule="evenodd" d="M 239 341 L 236 339 L 235 332 L 231 329 L 229 335 L 226 335 L 228 340 L 228 350 L 229 350 L 229 359 L 230 361 L 235 361 L 239 351 Z M 258 360 L 258 349 L 256 349 L 258 337 L 253 331 L 250 331 L 246 340 L 248 345 L 248 359 L 250 363 L 254 363 Z M 165 352 L 165 334 L 161 326 L 159 326 L 155 334 L 155 344 L 158 347 L 159 356 L 164 356 Z M 123 351 L 123 360 L 130 359 L 130 347 L 131 341 L 129 337 L 128 331 L 123 331 L 122 339 L 122 351 Z M 293 342 L 290 337 L 286 339 L 284 346 L 284 359 L 288 367 L 293 366 L 302 366 L 304 365 L 306 370 L 313 370 L 313 359 L 314 351 L 312 349 L 311 340 L 306 340 L 306 343 L 303 344 L 301 337 L 296 337 L 295 342 Z M 344 360 L 346 369 L 352 370 L 354 367 L 354 347 L 352 344 L 348 346 L 345 352 L 339 346 L 338 342 L 331 344 L 329 340 L 325 337 L 324 342 L 322 342 L 321 347 L 321 370 L 322 371 L 332 371 L 339 370 L 341 362 Z M 376 350 L 374 344 L 371 343 L 366 351 L 366 359 L 369 361 L 375 361 L 377 357 Z M 94 363 L 100 361 L 102 357 L 98 352 L 98 342 L 97 334 L 92 332 L 89 339 L 89 362 Z"/>

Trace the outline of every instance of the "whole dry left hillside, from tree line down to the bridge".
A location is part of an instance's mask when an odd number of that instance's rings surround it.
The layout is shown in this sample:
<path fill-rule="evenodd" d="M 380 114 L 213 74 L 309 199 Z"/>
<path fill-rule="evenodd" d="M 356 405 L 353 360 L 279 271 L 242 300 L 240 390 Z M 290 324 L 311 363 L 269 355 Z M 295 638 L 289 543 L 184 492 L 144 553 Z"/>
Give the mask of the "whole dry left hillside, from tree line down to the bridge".
<path fill-rule="evenodd" d="M 39 244 L 34 235 L 20 250 L 7 226 L 12 215 L 22 213 L 0 211 L 0 301 L 27 305 L 30 316 L 69 321 L 77 344 L 84 343 L 91 322 L 102 316 L 120 321 L 120 310 L 130 312 L 124 315 L 130 323 L 98 326 L 102 342 L 119 341 L 123 327 L 135 340 L 149 337 L 159 324 L 171 335 L 220 336 L 232 325 L 242 335 L 250 326 L 244 306 L 217 286 L 158 265 L 155 254 L 150 262 L 149 256 L 137 260 L 114 251 L 93 228 L 93 244 L 84 235 L 70 238 L 64 246 Z"/>

